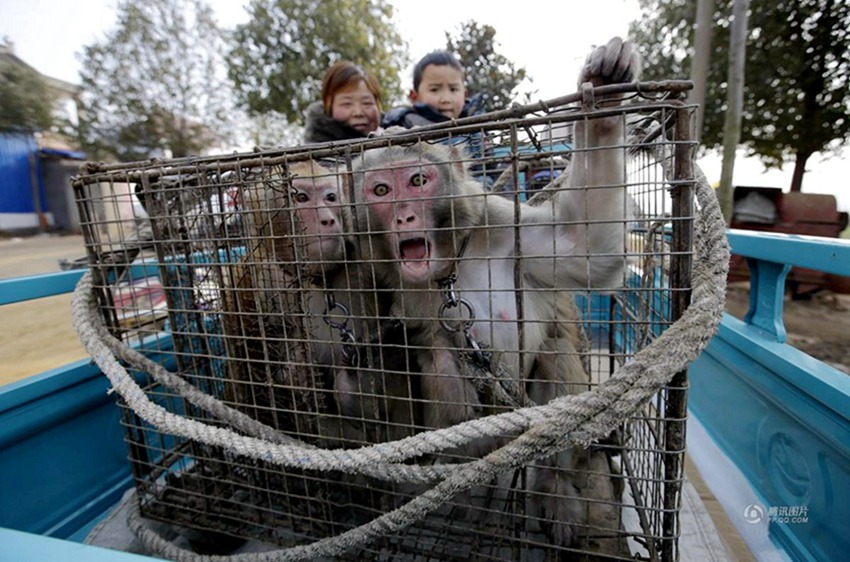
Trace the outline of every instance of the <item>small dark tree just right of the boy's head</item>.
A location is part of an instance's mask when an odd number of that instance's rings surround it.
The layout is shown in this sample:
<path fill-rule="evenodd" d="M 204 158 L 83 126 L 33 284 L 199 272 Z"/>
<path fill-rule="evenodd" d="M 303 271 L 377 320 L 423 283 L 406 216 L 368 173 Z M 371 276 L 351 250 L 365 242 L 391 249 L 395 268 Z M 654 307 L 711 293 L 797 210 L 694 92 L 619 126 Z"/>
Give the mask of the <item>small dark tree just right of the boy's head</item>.
<path fill-rule="evenodd" d="M 470 20 L 461 24 L 455 37 L 446 33 L 446 48 L 457 54 L 466 77 L 469 95 L 481 94 L 486 110 L 508 107 L 514 90 L 526 78 L 525 68 L 516 68 L 504 55 L 496 52 L 496 30 Z"/>

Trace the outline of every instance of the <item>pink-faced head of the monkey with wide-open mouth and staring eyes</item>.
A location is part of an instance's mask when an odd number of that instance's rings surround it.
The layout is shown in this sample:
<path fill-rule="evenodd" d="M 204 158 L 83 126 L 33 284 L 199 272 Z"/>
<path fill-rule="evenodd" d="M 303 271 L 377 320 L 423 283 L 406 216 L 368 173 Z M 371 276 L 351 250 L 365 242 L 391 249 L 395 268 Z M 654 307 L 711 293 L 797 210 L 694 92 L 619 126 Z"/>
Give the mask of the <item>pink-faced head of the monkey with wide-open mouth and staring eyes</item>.
<path fill-rule="evenodd" d="M 388 283 L 423 286 L 445 277 L 470 227 L 481 224 L 484 190 L 454 147 L 417 143 L 366 153 L 355 169 L 357 229 Z"/>

